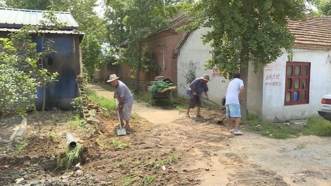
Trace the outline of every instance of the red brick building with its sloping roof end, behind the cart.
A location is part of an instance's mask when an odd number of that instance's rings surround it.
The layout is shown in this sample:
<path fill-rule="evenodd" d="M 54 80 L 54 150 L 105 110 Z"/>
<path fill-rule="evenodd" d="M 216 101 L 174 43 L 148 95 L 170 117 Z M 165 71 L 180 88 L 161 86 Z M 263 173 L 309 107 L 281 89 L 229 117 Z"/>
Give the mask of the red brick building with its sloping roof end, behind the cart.
<path fill-rule="evenodd" d="M 176 32 L 175 28 L 185 24 L 185 15 L 178 13 L 172 19 L 171 24 L 164 30 L 158 31 L 150 36 L 145 42 L 147 43 L 147 53 L 155 60 L 155 63 L 161 68 L 161 71 L 151 70 L 149 73 L 140 72 L 139 81 L 151 81 L 156 76 L 171 78 L 177 82 L 177 56 L 180 46 L 184 43 L 189 35 L 188 31 Z M 164 58 L 163 58 L 164 57 Z M 166 61 L 166 68 L 163 69 L 163 60 Z M 133 80 L 128 74 L 129 66 L 121 66 L 120 79 Z"/>

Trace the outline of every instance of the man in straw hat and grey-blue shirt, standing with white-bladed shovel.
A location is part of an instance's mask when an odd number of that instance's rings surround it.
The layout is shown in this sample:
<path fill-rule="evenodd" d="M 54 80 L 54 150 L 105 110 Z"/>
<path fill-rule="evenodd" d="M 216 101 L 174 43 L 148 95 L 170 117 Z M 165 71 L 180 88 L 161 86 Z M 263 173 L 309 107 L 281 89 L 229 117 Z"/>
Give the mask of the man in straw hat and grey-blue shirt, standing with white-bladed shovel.
<path fill-rule="evenodd" d="M 114 98 L 118 100 L 117 110 L 119 114 L 119 119 L 121 120 L 121 125 L 124 125 L 125 129 L 130 129 L 129 121 L 131 118 L 131 110 L 133 104 L 133 96 L 127 88 L 127 86 L 118 80 L 116 74 L 109 76 L 110 84 L 115 88 Z"/>

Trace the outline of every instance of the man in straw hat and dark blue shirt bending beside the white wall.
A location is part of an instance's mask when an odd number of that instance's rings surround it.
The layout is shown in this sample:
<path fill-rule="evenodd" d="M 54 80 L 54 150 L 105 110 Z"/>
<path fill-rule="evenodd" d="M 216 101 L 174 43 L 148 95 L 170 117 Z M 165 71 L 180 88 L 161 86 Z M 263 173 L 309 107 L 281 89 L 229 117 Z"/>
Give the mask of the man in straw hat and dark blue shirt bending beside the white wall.
<path fill-rule="evenodd" d="M 195 79 L 191 84 L 190 88 L 187 90 L 187 94 L 190 96 L 190 103 L 187 107 L 187 113 L 186 117 L 190 117 L 190 109 L 194 108 L 197 106 L 197 117 L 203 117 L 200 114 L 200 108 L 201 108 L 201 98 L 198 95 L 201 95 L 202 92 L 205 93 L 206 98 L 209 99 L 208 97 L 208 86 L 207 83 L 210 81 L 209 75 L 205 74 L 201 78 Z"/>

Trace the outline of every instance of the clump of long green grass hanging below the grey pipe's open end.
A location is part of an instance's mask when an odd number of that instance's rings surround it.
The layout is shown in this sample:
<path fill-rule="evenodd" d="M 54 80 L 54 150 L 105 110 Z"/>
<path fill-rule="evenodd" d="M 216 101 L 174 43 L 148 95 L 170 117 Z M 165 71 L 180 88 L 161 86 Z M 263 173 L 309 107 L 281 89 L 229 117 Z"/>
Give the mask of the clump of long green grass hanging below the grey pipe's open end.
<path fill-rule="evenodd" d="M 61 158 L 60 155 L 57 157 L 57 165 L 60 168 L 66 168 L 68 170 L 71 166 L 80 162 L 80 157 L 82 156 L 82 154 L 83 146 L 77 143 L 75 148 L 65 149 L 65 155 L 63 156 L 63 158 Z"/>

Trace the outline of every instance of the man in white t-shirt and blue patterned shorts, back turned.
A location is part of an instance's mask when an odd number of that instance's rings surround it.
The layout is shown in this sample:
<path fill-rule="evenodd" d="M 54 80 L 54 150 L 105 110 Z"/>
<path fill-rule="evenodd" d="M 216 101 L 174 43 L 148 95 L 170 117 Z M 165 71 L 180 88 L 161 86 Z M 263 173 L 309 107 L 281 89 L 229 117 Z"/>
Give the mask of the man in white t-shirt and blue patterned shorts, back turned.
<path fill-rule="evenodd" d="M 236 135 L 243 134 L 239 131 L 239 122 L 240 122 L 240 103 L 244 102 L 244 82 L 239 79 L 240 74 L 233 74 L 233 80 L 229 83 L 226 98 L 225 98 L 225 107 L 226 107 L 226 116 L 228 117 L 230 132 L 233 132 Z M 241 91 L 241 99 L 239 100 L 239 93 Z M 235 128 L 232 127 L 232 118 L 235 118 Z"/>

